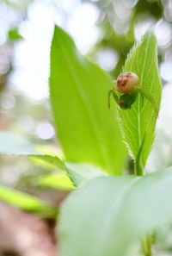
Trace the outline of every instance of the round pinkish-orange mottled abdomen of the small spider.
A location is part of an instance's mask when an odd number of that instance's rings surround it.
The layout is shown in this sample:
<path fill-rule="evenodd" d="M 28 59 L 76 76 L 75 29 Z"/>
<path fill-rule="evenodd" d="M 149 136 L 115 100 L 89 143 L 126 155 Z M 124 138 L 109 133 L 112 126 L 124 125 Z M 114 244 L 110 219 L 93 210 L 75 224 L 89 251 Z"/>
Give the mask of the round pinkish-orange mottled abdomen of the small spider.
<path fill-rule="evenodd" d="M 132 72 L 125 72 L 120 74 L 116 81 L 116 89 L 120 93 L 132 93 L 135 87 L 138 86 L 138 76 Z"/>

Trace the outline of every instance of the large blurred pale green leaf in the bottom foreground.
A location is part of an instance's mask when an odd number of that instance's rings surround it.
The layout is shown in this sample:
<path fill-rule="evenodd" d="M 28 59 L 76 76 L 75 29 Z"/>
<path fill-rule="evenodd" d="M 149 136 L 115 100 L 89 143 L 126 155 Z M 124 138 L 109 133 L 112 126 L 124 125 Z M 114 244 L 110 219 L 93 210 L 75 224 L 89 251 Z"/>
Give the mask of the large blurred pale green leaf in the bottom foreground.
<path fill-rule="evenodd" d="M 59 255 L 135 255 L 133 246 L 142 235 L 172 221 L 171 194 L 172 168 L 91 181 L 62 207 Z"/>

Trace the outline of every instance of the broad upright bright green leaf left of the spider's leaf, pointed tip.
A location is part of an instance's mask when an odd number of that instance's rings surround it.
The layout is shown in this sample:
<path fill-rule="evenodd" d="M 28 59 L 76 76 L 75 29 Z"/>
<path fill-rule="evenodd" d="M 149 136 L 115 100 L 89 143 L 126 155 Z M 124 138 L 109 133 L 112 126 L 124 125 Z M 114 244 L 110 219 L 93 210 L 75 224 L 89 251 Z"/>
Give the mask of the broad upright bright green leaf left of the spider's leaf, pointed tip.
<path fill-rule="evenodd" d="M 99 165 L 119 174 L 126 151 L 107 109 L 107 75 L 83 58 L 61 28 L 51 49 L 50 96 L 58 139 L 67 161 Z"/>

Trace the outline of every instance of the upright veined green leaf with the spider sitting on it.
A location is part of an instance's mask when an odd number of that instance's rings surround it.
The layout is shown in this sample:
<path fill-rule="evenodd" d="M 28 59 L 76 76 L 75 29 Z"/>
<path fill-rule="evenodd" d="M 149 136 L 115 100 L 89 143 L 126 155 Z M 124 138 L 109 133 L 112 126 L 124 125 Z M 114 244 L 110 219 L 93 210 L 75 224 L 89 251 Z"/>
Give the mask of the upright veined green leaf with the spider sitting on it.
<path fill-rule="evenodd" d="M 154 34 L 144 34 L 143 40 L 133 47 L 123 72 L 134 72 L 138 75 L 139 85 L 151 95 L 159 109 L 161 82 L 157 68 L 157 39 Z M 157 113 L 151 102 L 139 93 L 131 109 L 119 109 L 118 112 L 126 145 L 132 158 L 135 162 L 138 161 L 139 168 L 143 169 L 155 137 Z"/>

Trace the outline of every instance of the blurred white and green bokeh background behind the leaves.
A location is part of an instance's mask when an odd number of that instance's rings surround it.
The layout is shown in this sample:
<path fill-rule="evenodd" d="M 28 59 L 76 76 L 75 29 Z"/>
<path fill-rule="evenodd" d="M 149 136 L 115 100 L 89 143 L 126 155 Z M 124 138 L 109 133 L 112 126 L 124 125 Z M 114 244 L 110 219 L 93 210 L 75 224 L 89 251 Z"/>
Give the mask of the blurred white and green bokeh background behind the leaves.
<path fill-rule="evenodd" d="M 78 50 L 101 66 L 113 79 L 120 73 L 133 44 L 141 39 L 148 28 L 156 24 L 163 100 L 157 121 L 156 140 L 146 172 L 171 165 L 171 0 L 1 0 L 0 130 L 27 137 L 45 152 L 60 153 L 48 100 L 49 53 L 54 23 L 68 31 Z M 56 192 L 54 196 L 52 190 L 42 191 L 34 186 L 34 178 L 47 172 L 45 166 L 31 165 L 28 159 L 22 157 L 1 156 L 0 167 L 1 184 L 29 191 L 43 198 L 53 198 L 54 201 L 60 201 L 64 197 L 63 193 Z M 3 212 L 7 216 L 9 210 L 4 208 Z M 1 221 L 0 218 L 0 228 Z M 3 227 L 5 228 L 7 227 Z M 13 232 L 10 234 L 14 235 Z M 7 245 L 0 242 L 0 253 L 7 255 L 10 251 L 8 255 L 13 255 L 14 245 L 11 246 L 12 249 L 8 249 L 9 246 L 10 242 Z M 169 247 L 172 247 L 171 241 Z M 15 249 L 17 250 L 20 251 Z M 22 255 L 53 255 L 47 252 L 26 252 L 28 250 L 20 251 Z"/>

